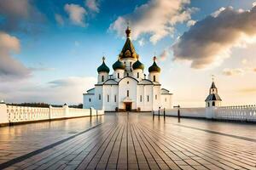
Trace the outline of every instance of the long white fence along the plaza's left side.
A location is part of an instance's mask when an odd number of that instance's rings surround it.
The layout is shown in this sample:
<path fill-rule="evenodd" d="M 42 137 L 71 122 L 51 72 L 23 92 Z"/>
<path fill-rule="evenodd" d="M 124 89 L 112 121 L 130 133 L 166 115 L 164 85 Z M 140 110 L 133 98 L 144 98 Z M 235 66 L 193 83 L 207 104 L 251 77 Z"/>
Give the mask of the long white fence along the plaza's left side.
<path fill-rule="evenodd" d="M 62 107 L 49 106 L 49 108 L 41 108 L 0 104 L 0 124 L 55 120 L 79 116 L 100 116 L 103 114 L 104 111 L 97 111 L 95 109 L 75 109 L 69 108 L 67 105 L 63 105 Z"/>

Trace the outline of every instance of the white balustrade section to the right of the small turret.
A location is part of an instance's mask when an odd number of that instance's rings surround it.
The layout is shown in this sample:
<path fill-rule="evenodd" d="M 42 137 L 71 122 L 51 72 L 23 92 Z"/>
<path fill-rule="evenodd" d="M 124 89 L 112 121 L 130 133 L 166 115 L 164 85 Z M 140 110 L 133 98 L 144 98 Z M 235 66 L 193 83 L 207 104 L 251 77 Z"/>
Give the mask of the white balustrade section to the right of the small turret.
<path fill-rule="evenodd" d="M 216 107 L 214 116 L 222 120 L 256 122 L 256 105 Z"/>

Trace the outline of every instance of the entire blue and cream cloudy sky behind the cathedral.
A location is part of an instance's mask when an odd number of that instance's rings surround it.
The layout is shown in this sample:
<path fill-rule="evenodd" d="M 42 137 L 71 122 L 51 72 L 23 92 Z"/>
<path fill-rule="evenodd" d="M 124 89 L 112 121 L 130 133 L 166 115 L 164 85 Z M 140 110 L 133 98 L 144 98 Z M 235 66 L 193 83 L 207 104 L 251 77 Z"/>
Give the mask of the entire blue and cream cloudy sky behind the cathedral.
<path fill-rule="evenodd" d="M 253 105 L 255 18 L 255 0 L 1 0 L 0 99 L 82 103 L 129 21 L 144 72 L 156 55 L 174 105 L 204 106 L 212 75 L 223 105 Z"/>

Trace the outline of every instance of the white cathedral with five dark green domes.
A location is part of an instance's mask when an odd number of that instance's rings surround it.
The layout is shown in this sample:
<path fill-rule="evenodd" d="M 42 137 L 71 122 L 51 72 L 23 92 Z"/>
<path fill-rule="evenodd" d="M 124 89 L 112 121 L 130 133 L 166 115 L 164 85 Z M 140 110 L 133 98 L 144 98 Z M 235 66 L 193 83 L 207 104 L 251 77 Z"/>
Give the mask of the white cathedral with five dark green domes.
<path fill-rule="evenodd" d="M 84 108 L 104 111 L 157 111 L 172 109 L 172 94 L 160 84 L 160 67 L 154 56 L 153 65 L 144 74 L 144 65 L 131 42 L 131 29 L 126 31 L 126 41 L 113 64 L 113 74 L 102 58 L 97 68 L 95 88 L 84 95 Z"/>

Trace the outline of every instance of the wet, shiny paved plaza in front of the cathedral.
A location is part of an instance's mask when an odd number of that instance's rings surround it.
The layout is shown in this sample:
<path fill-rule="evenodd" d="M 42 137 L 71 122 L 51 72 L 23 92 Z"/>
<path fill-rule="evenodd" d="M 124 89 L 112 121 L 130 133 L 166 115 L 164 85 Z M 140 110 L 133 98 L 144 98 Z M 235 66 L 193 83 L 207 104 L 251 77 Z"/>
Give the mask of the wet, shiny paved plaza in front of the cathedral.
<path fill-rule="evenodd" d="M 107 113 L 0 128 L 0 169 L 256 169 L 255 124 Z"/>

